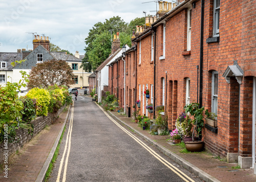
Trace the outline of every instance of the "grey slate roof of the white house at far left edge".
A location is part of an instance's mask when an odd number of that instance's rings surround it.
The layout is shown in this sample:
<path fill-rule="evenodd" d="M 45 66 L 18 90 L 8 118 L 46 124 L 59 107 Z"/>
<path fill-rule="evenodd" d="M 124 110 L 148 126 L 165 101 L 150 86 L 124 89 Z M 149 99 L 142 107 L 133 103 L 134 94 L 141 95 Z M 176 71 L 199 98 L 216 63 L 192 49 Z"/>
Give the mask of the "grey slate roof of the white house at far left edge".
<path fill-rule="evenodd" d="M 11 63 L 19 60 L 22 60 L 22 53 L 0 53 L 0 62 L 6 61 L 7 63 L 7 68 L 1 69 L 0 65 L 0 70 L 11 71 L 13 68 Z"/>

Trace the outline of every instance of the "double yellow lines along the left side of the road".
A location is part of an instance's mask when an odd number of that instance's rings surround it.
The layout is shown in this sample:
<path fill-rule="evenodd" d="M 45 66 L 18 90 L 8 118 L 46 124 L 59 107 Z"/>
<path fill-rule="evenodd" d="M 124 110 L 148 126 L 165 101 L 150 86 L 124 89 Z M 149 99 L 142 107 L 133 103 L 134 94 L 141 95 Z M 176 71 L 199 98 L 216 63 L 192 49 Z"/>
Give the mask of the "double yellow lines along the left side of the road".
<path fill-rule="evenodd" d="M 67 166 L 68 166 L 69 153 L 70 153 L 70 148 L 71 148 L 71 133 L 72 133 L 72 128 L 73 128 L 73 116 L 74 116 L 74 107 L 72 107 L 72 111 L 71 111 L 69 131 L 68 131 L 68 134 L 67 134 L 67 140 L 66 140 L 65 148 L 64 148 L 62 158 L 61 158 L 61 161 L 60 161 L 60 166 L 59 166 L 59 171 L 58 171 L 58 176 L 57 176 L 56 182 L 60 181 L 61 170 L 62 170 L 63 162 L 64 162 L 64 159 L 65 159 L 66 151 L 67 151 L 67 148 L 68 148 L 68 153 L 67 153 L 67 157 L 66 157 L 66 161 L 65 161 L 65 167 L 64 167 L 63 178 L 62 178 L 63 182 L 66 181 Z"/>

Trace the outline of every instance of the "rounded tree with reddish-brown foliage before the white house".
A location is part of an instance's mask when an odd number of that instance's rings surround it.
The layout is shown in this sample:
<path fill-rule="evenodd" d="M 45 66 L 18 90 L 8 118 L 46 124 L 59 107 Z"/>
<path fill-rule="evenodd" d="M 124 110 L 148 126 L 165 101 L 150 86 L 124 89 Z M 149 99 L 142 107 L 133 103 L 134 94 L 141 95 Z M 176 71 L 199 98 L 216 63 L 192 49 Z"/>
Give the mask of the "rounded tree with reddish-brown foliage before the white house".
<path fill-rule="evenodd" d="M 43 63 L 36 64 L 32 68 L 29 77 L 28 89 L 34 87 L 47 88 L 51 85 L 69 87 L 74 84 L 73 70 L 66 61 L 52 59 Z"/>

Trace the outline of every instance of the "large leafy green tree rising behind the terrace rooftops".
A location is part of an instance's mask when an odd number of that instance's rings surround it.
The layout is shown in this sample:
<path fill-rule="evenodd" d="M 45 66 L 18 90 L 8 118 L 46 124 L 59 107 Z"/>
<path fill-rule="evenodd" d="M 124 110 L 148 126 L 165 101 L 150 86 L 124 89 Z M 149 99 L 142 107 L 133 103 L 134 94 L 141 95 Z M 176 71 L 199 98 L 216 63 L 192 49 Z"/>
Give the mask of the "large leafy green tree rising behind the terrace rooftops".
<path fill-rule="evenodd" d="M 133 29 L 136 25 L 143 25 L 145 18 L 135 18 L 126 23 L 119 16 L 114 16 L 110 19 L 105 19 L 105 22 L 97 22 L 90 29 L 88 37 L 85 39 L 87 46 L 85 47 L 86 54 L 82 60 L 81 67 L 85 71 L 95 70 L 111 53 L 111 39 L 113 35 L 119 32 L 120 47 L 125 44 L 131 46 L 131 37 Z"/>

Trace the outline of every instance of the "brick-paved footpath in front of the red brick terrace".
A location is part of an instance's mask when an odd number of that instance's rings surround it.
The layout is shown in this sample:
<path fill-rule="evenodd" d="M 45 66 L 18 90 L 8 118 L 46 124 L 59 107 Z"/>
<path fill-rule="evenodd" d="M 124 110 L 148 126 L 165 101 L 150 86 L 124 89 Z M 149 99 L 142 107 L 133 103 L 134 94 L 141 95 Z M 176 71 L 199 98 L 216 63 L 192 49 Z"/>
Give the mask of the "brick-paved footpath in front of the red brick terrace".
<path fill-rule="evenodd" d="M 236 167 L 238 163 L 227 163 L 224 161 L 220 161 L 219 159 L 214 158 L 214 156 L 207 153 L 206 151 L 196 153 L 181 153 L 180 146 L 170 145 L 170 141 L 166 140 L 169 139 L 167 136 L 151 135 L 149 131 L 143 131 L 143 129 L 140 128 L 137 123 L 133 122 L 132 118 L 125 117 L 124 115 L 120 115 L 117 112 L 111 113 L 115 115 L 117 118 L 119 118 L 121 121 L 125 122 L 127 125 L 132 126 L 134 129 L 136 129 L 146 137 L 151 138 L 152 140 L 159 143 L 166 149 L 174 152 L 184 160 L 195 165 L 199 169 L 203 170 L 204 172 L 208 173 L 209 175 L 215 177 L 220 181 L 256 181 L 256 175 L 253 174 L 253 169 L 237 169 L 238 171 L 231 172 L 230 170 L 236 170 L 233 169 L 232 167 Z M 217 166 L 226 166 L 226 168 L 218 168 Z"/>

